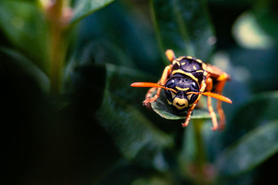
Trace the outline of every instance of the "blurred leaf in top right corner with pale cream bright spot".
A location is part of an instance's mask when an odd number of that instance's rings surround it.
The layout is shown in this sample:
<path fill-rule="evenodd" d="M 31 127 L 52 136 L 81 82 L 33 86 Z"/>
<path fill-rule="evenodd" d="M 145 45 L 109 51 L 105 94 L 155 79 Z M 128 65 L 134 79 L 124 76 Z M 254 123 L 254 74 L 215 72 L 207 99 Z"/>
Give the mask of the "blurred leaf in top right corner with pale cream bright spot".
<path fill-rule="evenodd" d="M 272 49 L 277 43 L 277 4 L 257 1 L 234 23 L 236 42 L 247 49 Z"/>

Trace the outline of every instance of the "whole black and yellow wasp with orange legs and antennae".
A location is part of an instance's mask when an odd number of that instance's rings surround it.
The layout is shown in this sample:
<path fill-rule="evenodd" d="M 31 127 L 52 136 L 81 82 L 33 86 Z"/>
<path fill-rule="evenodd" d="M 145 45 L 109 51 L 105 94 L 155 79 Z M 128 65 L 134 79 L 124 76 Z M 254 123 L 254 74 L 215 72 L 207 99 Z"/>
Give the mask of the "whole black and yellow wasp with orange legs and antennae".
<path fill-rule="evenodd" d="M 174 52 L 168 49 L 165 52 L 170 64 L 165 67 L 161 79 L 157 83 L 152 82 L 134 82 L 131 87 L 152 87 L 147 91 L 144 105 L 149 105 L 156 101 L 161 89 L 165 89 L 167 102 L 177 114 L 186 114 L 186 121 L 181 123 L 187 127 L 190 116 L 195 109 L 202 95 L 207 96 L 208 112 L 211 115 L 213 123 L 212 130 L 218 129 L 218 120 L 211 105 L 211 98 L 216 98 L 216 108 L 219 114 L 219 129 L 224 128 L 225 115 L 222 109 L 222 101 L 232 103 L 232 101 L 222 96 L 222 89 L 230 77 L 224 71 L 211 64 L 205 64 L 202 60 L 191 56 L 181 56 L 176 58 Z M 152 94 L 156 94 L 152 97 Z"/>

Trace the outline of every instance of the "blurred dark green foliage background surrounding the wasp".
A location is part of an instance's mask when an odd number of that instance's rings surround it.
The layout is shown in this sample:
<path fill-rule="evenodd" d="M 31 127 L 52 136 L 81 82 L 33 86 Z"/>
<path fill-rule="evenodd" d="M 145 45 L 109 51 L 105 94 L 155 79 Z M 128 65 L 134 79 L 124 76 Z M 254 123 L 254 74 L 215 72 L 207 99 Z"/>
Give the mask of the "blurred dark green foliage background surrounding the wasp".
<path fill-rule="evenodd" d="M 1 0 L 1 181 L 275 184 L 277 10 L 274 0 Z M 183 128 L 142 106 L 147 88 L 130 84 L 161 78 L 166 49 L 229 73 L 224 131 L 198 112 Z"/>

